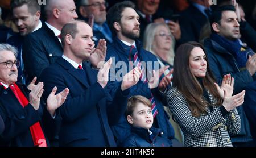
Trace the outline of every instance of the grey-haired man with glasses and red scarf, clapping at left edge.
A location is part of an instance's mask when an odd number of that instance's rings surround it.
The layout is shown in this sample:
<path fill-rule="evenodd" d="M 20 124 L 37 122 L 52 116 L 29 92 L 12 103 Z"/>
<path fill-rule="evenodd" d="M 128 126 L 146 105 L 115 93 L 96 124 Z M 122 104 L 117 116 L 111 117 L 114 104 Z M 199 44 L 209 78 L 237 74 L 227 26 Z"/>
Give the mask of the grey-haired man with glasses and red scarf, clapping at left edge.
<path fill-rule="evenodd" d="M 55 95 L 57 88 L 53 88 L 46 108 L 40 106 L 43 82 L 31 84 L 31 92 L 26 85 L 16 82 L 19 67 L 16 55 L 13 46 L 0 44 L 0 115 L 5 124 L 0 146 L 47 147 L 47 135 L 54 136 L 56 124 L 60 122 L 55 110 L 65 101 L 68 89 Z"/>

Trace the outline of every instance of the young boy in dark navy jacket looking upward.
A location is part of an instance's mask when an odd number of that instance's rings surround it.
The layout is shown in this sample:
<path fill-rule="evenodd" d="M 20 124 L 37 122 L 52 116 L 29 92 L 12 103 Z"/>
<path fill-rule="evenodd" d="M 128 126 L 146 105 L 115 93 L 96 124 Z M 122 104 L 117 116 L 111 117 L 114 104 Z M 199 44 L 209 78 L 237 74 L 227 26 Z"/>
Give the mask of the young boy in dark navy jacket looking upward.
<path fill-rule="evenodd" d="M 152 127 L 154 122 L 152 103 L 146 97 L 130 97 L 126 109 L 127 121 L 133 126 L 131 135 L 123 142 L 125 147 L 170 147 L 170 140 L 158 135 L 160 128 Z"/>

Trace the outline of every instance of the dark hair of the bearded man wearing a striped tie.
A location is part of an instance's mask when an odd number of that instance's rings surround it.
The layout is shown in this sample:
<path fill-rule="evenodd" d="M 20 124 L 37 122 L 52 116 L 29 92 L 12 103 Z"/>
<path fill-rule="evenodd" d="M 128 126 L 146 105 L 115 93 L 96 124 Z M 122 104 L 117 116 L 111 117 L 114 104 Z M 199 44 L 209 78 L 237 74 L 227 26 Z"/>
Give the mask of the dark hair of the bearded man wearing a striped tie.
<path fill-rule="evenodd" d="M 115 3 L 114 6 L 110 7 L 107 15 L 106 15 L 106 22 L 109 25 L 109 28 L 114 36 L 117 35 L 117 32 L 114 28 L 114 22 L 120 22 L 121 21 L 121 14 L 125 8 L 132 8 L 135 9 L 135 5 L 131 1 L 123 1 L 119 3 Z"/>

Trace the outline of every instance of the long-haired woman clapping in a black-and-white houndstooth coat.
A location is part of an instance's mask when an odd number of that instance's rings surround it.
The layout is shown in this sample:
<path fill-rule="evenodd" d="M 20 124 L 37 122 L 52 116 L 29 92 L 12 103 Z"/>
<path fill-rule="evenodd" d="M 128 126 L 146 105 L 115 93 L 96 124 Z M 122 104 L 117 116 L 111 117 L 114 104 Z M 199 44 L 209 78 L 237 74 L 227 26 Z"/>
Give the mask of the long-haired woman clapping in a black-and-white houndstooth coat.
<path fill-rule="evenodd" d="M 168 108 L 184 134 L 185 146 L 232 147 L 230 134 L 240 131 L 236 107 L 245 91 L 232 96 L 234 78 L 214 82 L 203 45 L 189 42 L 174 57 L 174 88 L 167 93 Z"/>

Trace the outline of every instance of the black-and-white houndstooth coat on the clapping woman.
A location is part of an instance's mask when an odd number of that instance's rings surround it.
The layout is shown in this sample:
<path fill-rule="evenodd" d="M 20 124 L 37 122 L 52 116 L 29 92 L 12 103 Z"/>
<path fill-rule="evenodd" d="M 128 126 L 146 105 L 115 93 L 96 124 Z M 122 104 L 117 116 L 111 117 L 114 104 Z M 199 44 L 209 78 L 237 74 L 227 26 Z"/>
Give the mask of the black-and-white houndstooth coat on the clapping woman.
<path fill-rule="evenodd" d="M 215 104 L 217 99 L 209 91 L 207 93 L 210 103 Z M 168 91 L 167 102 L 183 131 L 185 146 L 232 147 L 229 133 L 238 134 L 241 126 L 237 109 L 231 110 L 223 118 L 218 106 L 213 106 L 212 112 L 207 107 L 207 114 L 201 114 L 199 118 L 193 117 L 184 95 L 177 88 Z"/>

